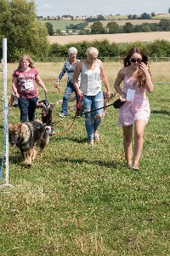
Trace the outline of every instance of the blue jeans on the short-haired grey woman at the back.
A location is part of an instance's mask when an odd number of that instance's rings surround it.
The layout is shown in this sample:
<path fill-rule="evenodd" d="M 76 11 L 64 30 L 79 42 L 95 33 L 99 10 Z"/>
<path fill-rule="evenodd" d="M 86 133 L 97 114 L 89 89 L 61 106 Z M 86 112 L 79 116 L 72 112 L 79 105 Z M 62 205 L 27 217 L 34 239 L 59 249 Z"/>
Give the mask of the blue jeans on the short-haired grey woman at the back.
<path fill-rule="evenodd" d="M 67 114 L 67 111 L 68 111 L 68 100 L 73 91 L 76 93 L 77 103 L 78 103 L 77 90 L 75 89 L 74 84 L 71 81 L 69 81 L 65 88 L 65 95 L 63 97 L 63 104 L 62 104 L 62 110 L 61 110 L 61 113 L 64 113 L 65 115 Z"/>

